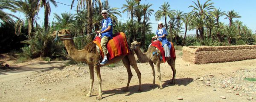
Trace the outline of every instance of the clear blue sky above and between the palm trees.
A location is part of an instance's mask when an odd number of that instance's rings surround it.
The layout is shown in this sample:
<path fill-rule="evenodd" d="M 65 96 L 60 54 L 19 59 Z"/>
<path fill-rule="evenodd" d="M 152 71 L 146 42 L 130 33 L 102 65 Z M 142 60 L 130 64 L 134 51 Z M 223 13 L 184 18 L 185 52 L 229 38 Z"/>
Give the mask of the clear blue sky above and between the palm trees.
<path fill-rule="evenodd" d="M 64 3 L 67 5 L 70 5 L 72 3 L 72 0 L 55 0 L 57 2 L 60 3 Z M 102 0 L 102 2 L 105 0 Z M 192 8 L 188 8 L 190 5 L 195 6 L 195 4 L 192 2 L 194 1 L 195 3 L 197 3 L 197 0 L 141 0 L 140 4 L 153 4 L 151 6 L 151 9 L 154 9 L 153 14 L 150 17 L 150 22 L 152 23 L 152 32 L 155 32 L 157 29 L 157 22 L 154 18 L 154 14 L 157 10 L 159 10 L 161 7 L 161 5 L 163 5 L 164 2 L 168 2 L 170 4 L 170 8 L 172 10 L 180 10 L 183 11 L 184 13 L 187 13 L 189 11 L 192 11 Z M 200 0 L 201 4 L 205 3 L 207 0 Z M 119 11 L 122 12 L 122 5 L 123 4 L 127 4 L 125 0 L 108 0 L 109 5 L 111 6 L 111 8 L 113 7 L 117 7 L 120 8 Z M 61 14 L 63 12 L 70 12 L 75 14 L 76 13 L 76 8 L 73 8 L 72 10 L 70 10 L 70 6 L 66 6 L 63 4 L 58 4 L 58 7 L 55 8 L 54 6 L 51 6 L 51 15 L 49 17 L 50 22 L 53 20 L 53 13 L 57 13 L 57 14 Z M 253 33 L 255 33 L 256 31 L 256 10 L 255 10 L 255 4 L 256 4 L 256 0 L 212 0 L 210 1 L 210 3 L 214 3 L 213 6 L 215 6 L 215 8 L 221 8 L 221 11 L 231 11 L 234 10 L 236 12 L 239 13 L 239 15 L 241 16 L 241 18 L 236 18 L 233 19 L 233 21 L 235 20 L 240 20 L 243 22 L 243 25 L 248 26 L 250 29 L 252 29 Z M 74 6 L 77 5 L 77 2 L 74 3 Z M 23 15 L 21 13 L 16 13 L 15 15 L 17 15 L 20 18 L 23 18 Z M 38 17 L 40 18 L 38 20 L 38 23 L 43 24 L 43 20 L 44 20 L 44 9 L 41 9 L 41 11 L 38 14 Z M 122 17 L 117 16 L 120 19 L 122 19 L 122 22 L 126 22 L 123 20 L 129 20 L 128 16 L 127 16 L 127 12 L 122 13 Z M 229 24 L 229 20 L 228 19 L 224 19 L 225 16 L 220 18 L 220 22 L 224 22 L 226 25 Z M 164 20 L 161 20 L 162 22 L 164 22 Z M 167 20 L 169 21 L 169 19 Z M 184 30 L 183 30 L 184 31 Z M 195 31 L 189 31 L 189 34 L 195 34 Z"/>

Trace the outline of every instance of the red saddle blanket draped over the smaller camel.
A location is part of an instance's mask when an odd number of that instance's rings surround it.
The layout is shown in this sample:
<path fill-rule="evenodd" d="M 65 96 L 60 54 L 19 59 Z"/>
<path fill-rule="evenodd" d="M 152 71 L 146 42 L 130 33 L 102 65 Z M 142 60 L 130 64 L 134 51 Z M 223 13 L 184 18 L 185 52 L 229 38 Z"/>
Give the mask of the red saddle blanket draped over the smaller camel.
<path fill-rule="evenodd" d="M 171 47 L 171 50 L 170 50 L 170 53 L 171 53 L 171 58 L 173 59 L 176 59 L 176 55 L 175 55 L 175 48 L 173 46 L 173 43 L 171 42 L 172 44 L 172 47 Z M 159 40 L 157 41 L 152 41 L 151 42 L 151 46 L 154 46 L 154 47 L 157 47 L 159 49 L 159 51 L 162 53 L 162 57 L 163 57 L 163 62 L 166 62 L 166 58 L 164 57 L 164 49 L 162 47 L 162 42 L 160 42 Z"/>

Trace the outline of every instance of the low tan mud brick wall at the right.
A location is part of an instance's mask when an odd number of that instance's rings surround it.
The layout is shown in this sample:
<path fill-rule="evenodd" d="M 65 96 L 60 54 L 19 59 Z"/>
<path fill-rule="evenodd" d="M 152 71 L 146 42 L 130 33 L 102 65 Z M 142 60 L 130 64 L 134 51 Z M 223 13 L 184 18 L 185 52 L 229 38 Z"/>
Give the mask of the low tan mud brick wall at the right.
<path fill-rule="evenodd" d="M 256 45 L 183 47 L 182 59 L 195 64 L 256 59 Z"/>

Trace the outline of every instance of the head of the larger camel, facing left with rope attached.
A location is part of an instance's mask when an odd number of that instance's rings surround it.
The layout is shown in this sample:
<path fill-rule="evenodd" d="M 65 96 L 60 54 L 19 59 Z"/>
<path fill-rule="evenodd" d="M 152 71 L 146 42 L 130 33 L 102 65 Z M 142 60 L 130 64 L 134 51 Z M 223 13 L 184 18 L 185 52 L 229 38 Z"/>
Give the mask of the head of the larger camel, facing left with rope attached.
<path fill-rule="evenodd" d="M 55 37 L 55 41 L 61 38 L 71 38 L 72 35 L 70 33 L 70 30 L 68 29 L 62 29 L 62 30 L 58 30 L 58 31 L 53 31 L 52 32 L 52 37 Z"/>

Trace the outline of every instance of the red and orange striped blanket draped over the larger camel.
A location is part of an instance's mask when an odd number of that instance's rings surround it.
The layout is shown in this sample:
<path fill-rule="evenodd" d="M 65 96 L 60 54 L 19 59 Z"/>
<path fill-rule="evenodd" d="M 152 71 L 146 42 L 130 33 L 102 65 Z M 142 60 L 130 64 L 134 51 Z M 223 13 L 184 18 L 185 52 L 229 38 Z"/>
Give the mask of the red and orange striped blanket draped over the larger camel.
<path fill-rule="evenodd" d="M 100 41 L 101 41 L 100 37 L 96 37 L 95 40 L 93 40 L 93 42 L 99 46 L 101 55 L 102 57 L 104 57 L 103 50 L 100 45 Z M 113 34 L 113 39 L 108 41 L 107 49 L 108 49 L 107 56 L 109 60 L 120 55 L 129 54 L 129 48 L 128 48 L 128 43 L 127 43 L 125 34 L 123 32 Z"/>

